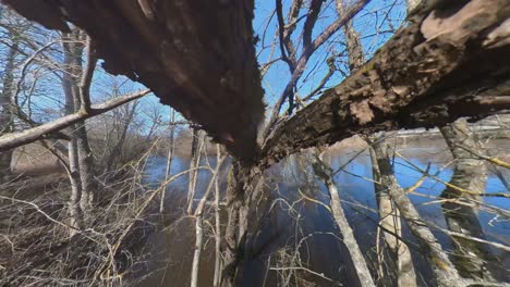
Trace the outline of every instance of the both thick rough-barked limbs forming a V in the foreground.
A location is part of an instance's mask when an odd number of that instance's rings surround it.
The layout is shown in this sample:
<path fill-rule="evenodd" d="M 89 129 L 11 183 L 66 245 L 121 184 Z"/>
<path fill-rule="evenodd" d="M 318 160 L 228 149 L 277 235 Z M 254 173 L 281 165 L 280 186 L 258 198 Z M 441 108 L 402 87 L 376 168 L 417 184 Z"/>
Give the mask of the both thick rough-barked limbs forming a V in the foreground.
<path fill-rule="evenodd" d="M 84 28 L 107 71 L 145 84 L 233 155 L 256 160 L 264 104 L 253 1 L 2 2 L 50 28 L 65 30 L 65 21 Z M 509 109 L 510 1 L 434 2 L 418 5 L 369 62 L 272 133 L 265 165 L 359 133 Z"/>

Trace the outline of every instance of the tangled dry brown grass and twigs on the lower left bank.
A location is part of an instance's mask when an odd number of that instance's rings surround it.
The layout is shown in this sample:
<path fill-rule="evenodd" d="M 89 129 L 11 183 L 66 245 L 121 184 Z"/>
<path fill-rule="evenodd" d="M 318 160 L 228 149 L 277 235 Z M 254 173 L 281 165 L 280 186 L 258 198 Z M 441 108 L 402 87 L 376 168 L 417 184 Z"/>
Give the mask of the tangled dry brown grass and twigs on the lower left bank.
<path fill-rule="evenodd" d="M 141 267 L 154 232 L 145 220 L 153 205 L 141 210 L 150 192 L 135 165 L 125 169 L 114 184 L 100 188 L 107 196 L 89 212 L 83 230 L 68 225 L 66 180 L 3 186 L 0 286 L 118 286 Z"/>

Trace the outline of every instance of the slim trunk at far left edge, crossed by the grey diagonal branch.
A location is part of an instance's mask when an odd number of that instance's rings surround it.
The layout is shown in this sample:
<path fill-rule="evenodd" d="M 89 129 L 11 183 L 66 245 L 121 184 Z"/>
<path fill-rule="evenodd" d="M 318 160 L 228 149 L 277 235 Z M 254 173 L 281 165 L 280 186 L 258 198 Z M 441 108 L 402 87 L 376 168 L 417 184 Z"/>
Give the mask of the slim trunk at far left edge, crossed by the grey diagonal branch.
<path fill-rule="evenodd" d="M 3 68 L 2 90 L 0 91 L 0 136 L 11 133 L 13 127 L 11 97 L 14 92 L 14 61 L 17 53 L 16 37 L 10 35 L 12 43 L 9 48 Z M 0 185 L 11 178 L 11 162 L 14 150 L 0 152 Z"/>

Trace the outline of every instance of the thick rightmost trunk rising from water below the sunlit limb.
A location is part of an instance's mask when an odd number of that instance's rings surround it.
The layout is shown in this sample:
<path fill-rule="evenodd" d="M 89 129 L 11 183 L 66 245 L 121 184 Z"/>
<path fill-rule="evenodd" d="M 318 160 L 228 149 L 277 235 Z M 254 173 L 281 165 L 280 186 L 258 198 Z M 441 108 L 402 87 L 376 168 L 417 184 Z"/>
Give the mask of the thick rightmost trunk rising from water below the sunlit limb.
<path fill-rule="evenodd" d="M 478 154 L 483 154 L 484 151 L 466 121 L 458 120 L 440 130 L 456 162 L 450 184 L 470 191 L 485 192 L 487 165 L 469 150 Z M 441 197 L 449 199 L 442 203 L 442 211 L 450 230 L 485 239 L 477 219 L 476 203 L 473 201 L 481 200 L 479 197 L 452 187 L 447 187 Z M 456 249 L 453 263 L 463 277 L 485 280 L 501 278 L 501 265 L 486 245 L 454 236 L 452 239 Z"/>

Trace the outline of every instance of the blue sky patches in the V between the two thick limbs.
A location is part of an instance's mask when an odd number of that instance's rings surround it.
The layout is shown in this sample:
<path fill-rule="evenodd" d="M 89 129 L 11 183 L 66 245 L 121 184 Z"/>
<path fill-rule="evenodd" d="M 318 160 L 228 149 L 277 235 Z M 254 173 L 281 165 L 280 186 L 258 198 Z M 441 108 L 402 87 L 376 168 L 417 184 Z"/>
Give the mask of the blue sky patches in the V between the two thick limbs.
<path fill-rule="evenodd" d="M 307 0 L 304 1 L 305 5 Z M 349 1 L 348 1 L 349 2 Z M 269 61 L 270 49 L 262 50 L 262 45 L 269 43 L 274 40 L 277 30 L 276 16 L 270 18 L 272 11 L 275 10 L 275 0 L 256 0 L 255 1 L 255 18 L 254 18 L 254 30 L 259 36 L 260 41 L 257 45 L 257 52 L 260 52 L 259 64 L 264 64 Z M 286 16 L 291 1 L 283 0 L 283 15 Z M 301 14 L 306 13 L 306 9 L 302 9 Z M 405 17 L 404 2 L 400 0 L 373 0 L 359 15 L 354 18 L 354 27 L 361 34 L 362 42 L 364 46 L 365 53 L 369 58 L 388 38 L 392 35 L 390 32 L 398 28 Z M 319 20 L 313 32 L 313 38 L 320 34 L 329 24 L 338 18 L 338 14 L 335 8 L 335 1 L 328 0 L 323 5 Z M 304 20 L 300 22 L 296 30 L 293 34 L 293 41 L 295 47 L 302 47 L 299 39 L 301 35 L 302 25 Z M 264 33 L 265 27 L 267 32 Z M 264 38 L 264 35 L 266 36 Z M 331 54 L 331 51 L 341 52 L 344 50 L 343 45 L 343 33 L 339 30 L 331 39 L 318 49 L 314 55 L 309 59 L 306 72 L 303 74 L 302 79 L 298 84 L 298 93 L 300 96 L 307 95 L 309 91 L 320 83 L 324 75 L 328 72 L 326 59 Z M 301 50 L 299 51 L 301 53 Z M 275 54 L 271 59 L 280 55 L 279 48 L 275 50 Z M 347 61 L 345 58 L 338 59 L 337 62 L 341 63 Z M 347 72 L 347 66 L 343 66 Z M 341 83 L 343 76 L 340 73 L 336 73 L 328 84 L 327 87 L 331 87 Z M 271 105 L 280 93 L 284 89 L 284 86 L 290 79 L 289 68 L 286 63 L 279 61 L 275 63 L 267 75 L 263 79 L 263 86 L 266 90 L 266 102 Z"/>

